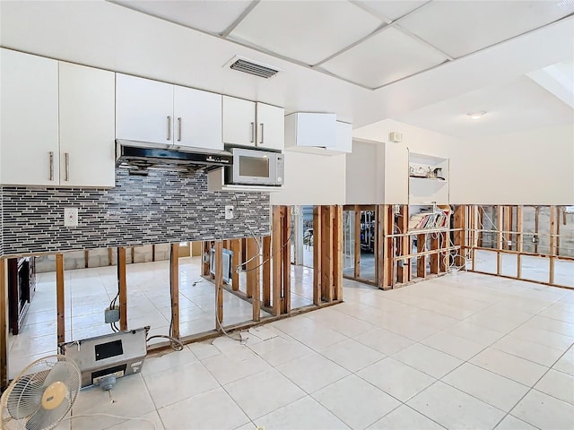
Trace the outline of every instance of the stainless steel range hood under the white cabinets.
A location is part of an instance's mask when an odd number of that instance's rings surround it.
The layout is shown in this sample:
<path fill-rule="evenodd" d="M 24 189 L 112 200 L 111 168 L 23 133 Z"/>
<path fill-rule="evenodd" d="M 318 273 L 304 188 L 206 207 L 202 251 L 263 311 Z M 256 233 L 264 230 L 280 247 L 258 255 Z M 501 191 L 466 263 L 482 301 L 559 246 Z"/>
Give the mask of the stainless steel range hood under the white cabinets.
<path fill-rule="evenodd" d="M 148 168 L 209 172 L 232 163 L 232 154 L 224 150 L 204 150 L 121 139 L 116 141 L 116 167 L 129 168 L 133 174 L 145 175 Z"/>

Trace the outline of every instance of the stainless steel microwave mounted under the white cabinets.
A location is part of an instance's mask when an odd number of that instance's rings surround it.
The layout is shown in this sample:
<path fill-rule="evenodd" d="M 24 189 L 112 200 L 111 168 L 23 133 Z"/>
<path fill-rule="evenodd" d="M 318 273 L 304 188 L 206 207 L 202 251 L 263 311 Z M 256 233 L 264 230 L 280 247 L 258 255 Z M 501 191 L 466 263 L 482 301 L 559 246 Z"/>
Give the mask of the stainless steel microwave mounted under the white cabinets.
<path fill-rule="evenodd" d="M 225 183 L 283 185 L 283 153 L 270 150 L 231 148 L 233 165 L 225 167 Z"/>

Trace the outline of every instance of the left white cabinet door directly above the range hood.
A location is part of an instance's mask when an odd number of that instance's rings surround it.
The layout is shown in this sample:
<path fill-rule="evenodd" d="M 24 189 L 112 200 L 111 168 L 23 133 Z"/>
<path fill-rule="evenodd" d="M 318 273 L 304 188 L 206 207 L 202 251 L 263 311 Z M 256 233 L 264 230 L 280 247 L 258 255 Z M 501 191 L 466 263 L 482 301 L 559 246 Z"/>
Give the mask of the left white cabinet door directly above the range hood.
<path fill-rule="evenodd" d="M 173 143 L 173 85 L 116 74 L 116 137 Z"/>

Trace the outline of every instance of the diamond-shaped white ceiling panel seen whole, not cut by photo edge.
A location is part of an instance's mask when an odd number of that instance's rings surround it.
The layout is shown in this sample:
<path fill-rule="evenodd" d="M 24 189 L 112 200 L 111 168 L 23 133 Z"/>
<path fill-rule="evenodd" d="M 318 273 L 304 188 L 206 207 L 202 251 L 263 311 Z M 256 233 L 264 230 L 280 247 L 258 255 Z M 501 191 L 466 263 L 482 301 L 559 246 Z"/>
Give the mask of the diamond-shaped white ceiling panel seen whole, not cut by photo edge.
<path fill-rule="evenodd" d="M 377 88 L 446 60 L 436 49 L 389 27 L 321 67 L 351 82 Z"/>

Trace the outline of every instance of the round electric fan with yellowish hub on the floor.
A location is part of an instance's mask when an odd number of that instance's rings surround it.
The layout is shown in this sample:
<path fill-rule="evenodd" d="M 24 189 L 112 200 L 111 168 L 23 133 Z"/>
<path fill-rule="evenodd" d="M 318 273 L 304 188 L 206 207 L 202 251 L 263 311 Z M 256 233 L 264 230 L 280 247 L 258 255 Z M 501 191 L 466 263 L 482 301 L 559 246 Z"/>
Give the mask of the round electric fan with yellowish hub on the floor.
<path fill-rule="evenodd" d="M 80 369 L 65 356 L 39 358 L 14 378 L 0 400 L 2 428 L 48 430 L 65 417 L 80 391 Z"/>

